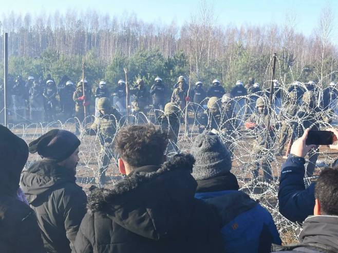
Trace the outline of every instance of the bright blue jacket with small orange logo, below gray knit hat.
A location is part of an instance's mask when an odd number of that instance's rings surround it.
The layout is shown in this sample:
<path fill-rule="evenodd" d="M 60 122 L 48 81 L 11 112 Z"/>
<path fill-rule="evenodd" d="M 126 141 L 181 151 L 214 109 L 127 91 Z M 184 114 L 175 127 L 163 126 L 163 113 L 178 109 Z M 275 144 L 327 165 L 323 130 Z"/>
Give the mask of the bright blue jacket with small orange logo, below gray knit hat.
<path fill-rule="evenodd" d="M 272 243 L 281 244 L 270 213 L 247 194 L 226 190 L 196 193 L 195 198 L 215 205 L 221 213 L 226 252 L 271 252 Z"/>

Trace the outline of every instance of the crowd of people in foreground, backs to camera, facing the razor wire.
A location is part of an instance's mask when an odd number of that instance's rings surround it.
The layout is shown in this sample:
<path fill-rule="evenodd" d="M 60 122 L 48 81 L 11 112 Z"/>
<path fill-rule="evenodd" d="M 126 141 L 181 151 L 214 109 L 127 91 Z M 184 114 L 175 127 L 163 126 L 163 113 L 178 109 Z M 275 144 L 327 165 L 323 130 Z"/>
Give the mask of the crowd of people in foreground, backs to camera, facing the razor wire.
<path fill-rule="evenodd" d="M 309 130 L 281 167 L 280 213 L 302 223 L 299 243 L 282 246 L 268 210 L 239 191 L 232 153 L 213 132 L 168 158 L 168 132 L 119 129 L 111 145 L 124 177 L 87 196 L 76 183 L 76 135 L 54 129 L 27 145 L 0 125 L 0 252 L 338 252 L 338 168 L 305 188 Z M 25 167 L 29 153 L 41 158 Z"/>

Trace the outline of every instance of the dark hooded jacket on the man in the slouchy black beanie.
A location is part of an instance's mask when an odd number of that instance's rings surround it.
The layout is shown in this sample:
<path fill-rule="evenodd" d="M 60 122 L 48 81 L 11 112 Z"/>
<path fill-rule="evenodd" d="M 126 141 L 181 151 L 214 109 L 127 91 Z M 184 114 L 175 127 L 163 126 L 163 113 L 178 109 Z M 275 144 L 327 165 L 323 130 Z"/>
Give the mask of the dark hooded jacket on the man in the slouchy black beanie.
<path fill-rule="evenodd" d="M 71 252 L 87 202 L 75 181 L 75 171 L 48 159 L 22 173 L 21 187 L 35 210 L 47 252 Z"/>

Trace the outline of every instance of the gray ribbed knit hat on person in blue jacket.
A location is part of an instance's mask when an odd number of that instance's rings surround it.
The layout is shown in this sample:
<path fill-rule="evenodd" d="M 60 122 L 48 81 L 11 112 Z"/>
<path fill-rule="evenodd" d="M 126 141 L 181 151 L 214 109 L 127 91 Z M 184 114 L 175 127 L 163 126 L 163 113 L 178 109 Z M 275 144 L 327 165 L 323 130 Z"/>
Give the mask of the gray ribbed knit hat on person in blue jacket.
<path fill-rule="evenodd" d="M 231 155 L 226 145 L 209 131 L 196 137 L 190 153 L 196 159 L 192 173 L 196 180 L 224 175 L 231 170 Z"/>

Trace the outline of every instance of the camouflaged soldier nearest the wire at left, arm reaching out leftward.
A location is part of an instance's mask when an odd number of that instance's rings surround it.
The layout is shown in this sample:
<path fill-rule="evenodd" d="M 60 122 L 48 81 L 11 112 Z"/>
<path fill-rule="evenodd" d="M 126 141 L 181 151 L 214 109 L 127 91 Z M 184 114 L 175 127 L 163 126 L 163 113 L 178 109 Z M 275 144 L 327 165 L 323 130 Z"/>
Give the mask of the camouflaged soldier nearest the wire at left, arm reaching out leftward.
<path fill-rule="evenodd" d="M 99 171 L 96 178 L 98 183 L 104 184 L 105 172 L 111 158 L 114 157 L 112 143 L 122 116 L 114 107 L 111 107 L 109 98 L 99 98 L 97 107 L 100 115 L 95 118 L 90 128 L 84 130 L 84 135 L 97 135 L 100 140 Z"/>

